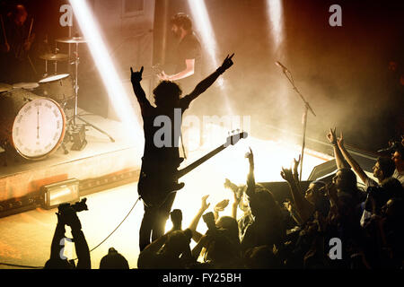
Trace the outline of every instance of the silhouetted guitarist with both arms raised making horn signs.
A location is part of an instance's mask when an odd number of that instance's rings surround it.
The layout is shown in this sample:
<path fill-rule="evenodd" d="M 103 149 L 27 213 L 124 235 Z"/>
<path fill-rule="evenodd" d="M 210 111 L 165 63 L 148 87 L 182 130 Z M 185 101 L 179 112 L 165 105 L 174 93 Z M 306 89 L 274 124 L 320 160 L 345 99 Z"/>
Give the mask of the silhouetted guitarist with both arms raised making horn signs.
<path fill-rule="evenodd" d="M 151 236 L 154 240 L 164 234 L 165 222 L 170 215 L 176 196 L 175 192 L 167 196 L 168 191 L 179 190 L 184 186 L 175 179 L 175 173 L 182 161 L 178 148 L 181 125 L 177 118 L 178 113 L 180 112 L 182 117 L 183 112 L 189 108 L 190 102 L 197 99 L 202 92 L 215 83 L 220 74 L 233 65 L 233 55 L 227 56 L 215 73 L 198 83 L 194 91 L 183 98 L 180 98 L 182 91 L 177 83 L 170 81 L 159 83 L 153 91 L 156 107 L 147 100 L 140 84 L 143 66 L 139 72 L 135 73 L 130 68 L 133 90 L 140 105 L 145 132 L 145 150 L 137 187 L 139 196 L 142 197 L 145 205 L 145 214 L 139 231 L 141 251 L 150 244 Z M 174 121 L 175 113 L 176 121 Z M 170 119 L 169 127 L 164 126 L 162 121 L 164 119 Z M 154 198 L 159 196 L 162 196 L 163 201 L 161 198 Z M 160 202 L 162 204 L 155 204 Z"/>

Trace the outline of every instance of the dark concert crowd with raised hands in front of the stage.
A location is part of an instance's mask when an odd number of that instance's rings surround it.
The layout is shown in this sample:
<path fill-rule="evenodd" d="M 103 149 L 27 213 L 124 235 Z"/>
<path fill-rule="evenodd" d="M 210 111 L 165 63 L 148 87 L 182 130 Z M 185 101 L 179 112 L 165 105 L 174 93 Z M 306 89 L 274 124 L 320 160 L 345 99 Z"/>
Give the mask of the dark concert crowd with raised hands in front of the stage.
<path fill-rule="evenodd" d="M 147 245 L 137 259 L 138 269 L 402 269 L 404 234 L 402 174 L 404 147 L 396 145 L 392 156 L 377 159 L 373 180 L 365 175 L 344 147 L 343 138 L 331 129 L 327 135 L 336 154 L 338 171 L 329 182 L 312 181 L 302 190 L 298 176 L 299 159 L 292 169 L 282 168 L 282 178 L 290 187 L 290 196 L 278 203 L 268 188 L 254 179 L 254 154 L 246 184 L 236 186 L 224 178 L 224 186 L 233 190 L 228 199 L 207 212 L 208 196 L 189 227 L 182 227 L 182 212 L 170 213 L 172 228 Z M 350 169 L 352 167 L 352 170 Z M 363 179 L 364 187 L 356 181 Z M 365 175 L 365 177 L 364 177 Z M 220 216 L 229 205 L 231 216 Z M 186 207 L 184 207 L 186 208 Z M 242 213 L 238 216 L 238 211 Z M 207 231 L 198 231 L 201 218 Z M 65 206 L 57 213 L 57 227 L 51 255 L 45 268 L 91 268 L 90 251 L 75 208 Z M 72 229 L 77 265 L 60 256 L 60 240 L 66 226 Z M 338 239 L 340 254 L 332 257 Z M 191 248 L 191 241 L 196 243 Z M 102 257 L 100 269 L 128 269 L 126 258 L 115 248 Z"/>

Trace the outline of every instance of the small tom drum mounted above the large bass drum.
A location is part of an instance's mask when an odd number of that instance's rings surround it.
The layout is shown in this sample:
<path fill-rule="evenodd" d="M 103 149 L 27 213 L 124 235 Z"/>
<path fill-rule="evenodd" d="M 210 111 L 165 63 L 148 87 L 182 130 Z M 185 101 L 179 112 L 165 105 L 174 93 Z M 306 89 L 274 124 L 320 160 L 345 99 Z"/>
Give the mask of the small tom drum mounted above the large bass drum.
<path fill-rule="evenodd" d="M 43 97 L 56 100 L 58 103 L 66 102 L 75 97 L 75 88 L 70 74 L 51 75 L 40 80 L 40 87 L 36 91 Z"/>

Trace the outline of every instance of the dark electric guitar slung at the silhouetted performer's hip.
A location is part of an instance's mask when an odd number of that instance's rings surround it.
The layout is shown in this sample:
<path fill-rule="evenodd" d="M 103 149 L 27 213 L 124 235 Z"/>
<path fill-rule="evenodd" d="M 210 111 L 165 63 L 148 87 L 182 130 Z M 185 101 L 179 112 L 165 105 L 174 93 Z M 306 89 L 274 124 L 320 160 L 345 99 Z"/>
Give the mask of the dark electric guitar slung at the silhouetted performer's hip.
<path fill-rule="evenodd" d="M 222 152 L 227 146 L 234 145 L 238 143 L 240 139 L 246 138 L 247 136 L 248 134 L 246 132 L 230 135 L 227 137 L 224 144 L 218 146 L 212 152 L 208 152 L 206 155 L 181 170 L 178 170 L 178 168 L 180 167 L 180 163 L 184 161 L 183 158 L 180 158 L 179 161 L 172 162 L 169 168 L 163 168 L 163 170 L 160 169 L 159 171 L 155 170 L 155 172 L 149 172 L 149 174 L 142 172 L 137 185 L 139 196 L 146 206 L 161 206 L 167 199 L 167 196 L 184 187 L 183 184 L 178 183 L 178 179 L 188 174 L 191 170 L 196 169 L 217 153 Z"/>

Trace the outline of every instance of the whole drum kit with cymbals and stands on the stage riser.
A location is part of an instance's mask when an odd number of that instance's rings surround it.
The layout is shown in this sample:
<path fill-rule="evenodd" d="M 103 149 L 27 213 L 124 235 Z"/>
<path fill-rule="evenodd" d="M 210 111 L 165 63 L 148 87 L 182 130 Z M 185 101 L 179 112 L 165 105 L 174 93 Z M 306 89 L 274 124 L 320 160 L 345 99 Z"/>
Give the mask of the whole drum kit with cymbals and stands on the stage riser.
<path fill-rule="evenodd" d="M 73 60 L 67 54 L 58 54 L 56 48 L 55 53 L 40 56 L 45 60 L 45 74 L 38 83 L 0 83 L 0 146 L 26 160 L 42 160 L 60 146 L 68 153 L 65 143 L 75 140 L 79 133 L 83 143 L 78 146 L 75 143 L 72 150 L 82 150 L 86 144 L 85 126 L 92 126 L 115 142 L 101 128 L 78 115 L 78 45 L 86 40 L 72 37 L 56 41 L 75 44 Z M 57 74 L 57 63 L 66 61 L 75 65 L 74 79 L 71 74 Z M 48 75 L 48 62 L 53 63 L 55 74 Z M 66 117 L 72 114 L 67 112 L 70 109 L 73 115 Z M 77 124 L 77 120 L 84 124 Z"/>

